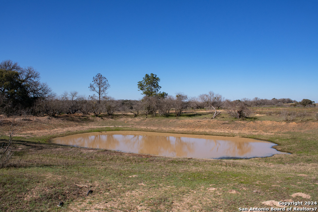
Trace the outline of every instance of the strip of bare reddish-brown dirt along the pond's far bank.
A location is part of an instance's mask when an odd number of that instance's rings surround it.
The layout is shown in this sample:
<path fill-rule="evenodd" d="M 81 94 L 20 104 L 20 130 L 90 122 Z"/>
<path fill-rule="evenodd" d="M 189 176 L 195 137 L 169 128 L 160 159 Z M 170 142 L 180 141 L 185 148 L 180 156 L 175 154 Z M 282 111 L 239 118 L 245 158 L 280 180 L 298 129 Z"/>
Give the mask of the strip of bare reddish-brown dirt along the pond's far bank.
<path fill-rule="evenodd" d="M 260 116 L 258 116 L 260 117 Z M 139 130 L 163 132 L 192 132 L 193 134 L 248 134 L 248 135 L 273 135 L 283 132 L 304 132 L 318 129 L 318 122 L 288 123 L 278 121 L 225 121 L 222 119 L 169 119 L 144 117 L 91 117 L 81 115 L 62 115 L 56 118 L 27 117 L 15 120 L 21 129 L 17 136 L 47 136 L 67 132 L 85 131 L 101 127 L 134 127 Z M 2 120 L 3 134 L 11 124 L 11 119 Z M 128 126 L 127 124 L 133 124 Z"/>

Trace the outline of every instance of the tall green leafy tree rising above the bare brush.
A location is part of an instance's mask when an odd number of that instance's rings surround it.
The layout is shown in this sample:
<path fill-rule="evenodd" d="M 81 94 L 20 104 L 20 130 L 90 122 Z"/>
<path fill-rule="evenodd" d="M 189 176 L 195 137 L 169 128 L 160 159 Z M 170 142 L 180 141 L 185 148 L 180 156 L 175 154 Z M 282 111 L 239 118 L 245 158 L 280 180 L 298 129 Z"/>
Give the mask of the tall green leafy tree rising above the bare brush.
<path fill-rule="evenodd" d="M 166 97 L 168 94 L 165 92 L 159 92 L 161 86 L 159 86 L 159 77 L 156 74 L 146 74 L 142 81 L 138 82 L 138 90 L 143 91 L 142 94 L 146 96 L 159 96 Z"/>

